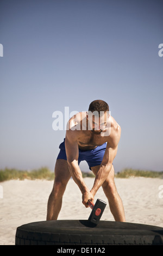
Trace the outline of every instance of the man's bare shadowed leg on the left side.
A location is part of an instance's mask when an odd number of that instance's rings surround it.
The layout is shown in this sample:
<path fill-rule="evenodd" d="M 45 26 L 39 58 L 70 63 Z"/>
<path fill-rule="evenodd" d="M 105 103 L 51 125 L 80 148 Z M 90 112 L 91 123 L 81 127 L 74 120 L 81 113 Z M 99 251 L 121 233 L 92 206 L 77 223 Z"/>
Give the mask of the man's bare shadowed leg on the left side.
<path fill-rule="evenodd" d="M 67 161 L 58 159 L 55 164 L 54 186 L 48 199 L 47 221 L 57 220 L 62 205 L 62 196 L 70 178 L 71 174 L 68 169 Z"/>

